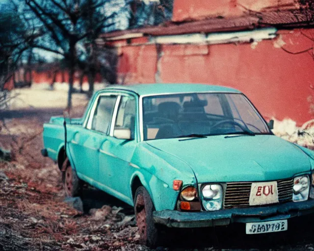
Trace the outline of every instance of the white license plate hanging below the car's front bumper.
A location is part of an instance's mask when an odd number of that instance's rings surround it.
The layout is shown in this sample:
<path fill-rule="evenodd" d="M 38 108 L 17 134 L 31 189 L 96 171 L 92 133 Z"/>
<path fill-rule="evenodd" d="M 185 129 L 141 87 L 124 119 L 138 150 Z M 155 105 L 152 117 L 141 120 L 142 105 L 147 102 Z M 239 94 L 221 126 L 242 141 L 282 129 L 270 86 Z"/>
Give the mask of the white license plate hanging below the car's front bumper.
<path fill-rule="evenodd" d="M 270 233 L 288 230 L 288 221 L 255 222 L 246 224 L 246 234 Z"/>

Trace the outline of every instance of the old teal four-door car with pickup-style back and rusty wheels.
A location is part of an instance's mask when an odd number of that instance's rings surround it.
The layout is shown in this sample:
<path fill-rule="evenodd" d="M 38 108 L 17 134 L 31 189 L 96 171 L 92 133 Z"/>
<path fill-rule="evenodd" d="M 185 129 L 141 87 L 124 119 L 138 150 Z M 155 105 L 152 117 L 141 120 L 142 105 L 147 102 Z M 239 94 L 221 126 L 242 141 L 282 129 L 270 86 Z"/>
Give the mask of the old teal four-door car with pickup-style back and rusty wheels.
<path fill-rule="evenodd" d="M 201 84 L 110 86 L 79 119 L 44 124 L 42 154 L 67 196 L 83 182 L 134 206 L 141 241 L 160 226 L 284 231 L 314 212 L 314 152 L 271 132 L 240 91 Z"/>

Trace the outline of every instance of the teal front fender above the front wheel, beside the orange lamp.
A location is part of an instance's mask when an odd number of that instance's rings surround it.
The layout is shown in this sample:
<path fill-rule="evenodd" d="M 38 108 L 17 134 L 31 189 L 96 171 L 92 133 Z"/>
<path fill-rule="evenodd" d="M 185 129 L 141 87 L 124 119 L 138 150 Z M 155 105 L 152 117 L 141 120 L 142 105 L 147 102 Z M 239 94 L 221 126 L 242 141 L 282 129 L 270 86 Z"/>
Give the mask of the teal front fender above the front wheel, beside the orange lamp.
<path fill-rule="evenodd" d="M 134 151 L 130 165 L 136 168 L 131 176 L 131 188 L 135 176 L 138 176 L 157 211 L 175 209 L 179 191 L 173 190 L 173 180 L 183 180 L 184 185 L 197 185 L 194 173 L 186 163 L 146 143 Z M 130 194 L 132 195 L 132 189 Z"/>

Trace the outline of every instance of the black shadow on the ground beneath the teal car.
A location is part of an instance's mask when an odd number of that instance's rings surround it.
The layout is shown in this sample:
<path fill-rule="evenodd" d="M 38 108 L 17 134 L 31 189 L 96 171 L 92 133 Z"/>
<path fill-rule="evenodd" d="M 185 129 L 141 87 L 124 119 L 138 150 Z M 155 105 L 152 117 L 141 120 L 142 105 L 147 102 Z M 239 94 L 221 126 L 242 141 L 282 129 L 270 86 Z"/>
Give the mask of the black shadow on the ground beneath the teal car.
<path fill-rule="evenodd" d="M 123 207 L 126 215 L 133 215 L 133 208 L 94 188 L 84 189 L 84 212 L 104 205 Z M 270 234 L 246 235 L 244 224 L 209 228 L 162 228 L 162 247 L 158 251 L 184 250 L 314 250 L 314 219 L 302 216 L 288 220 L 288 231 Z"/>

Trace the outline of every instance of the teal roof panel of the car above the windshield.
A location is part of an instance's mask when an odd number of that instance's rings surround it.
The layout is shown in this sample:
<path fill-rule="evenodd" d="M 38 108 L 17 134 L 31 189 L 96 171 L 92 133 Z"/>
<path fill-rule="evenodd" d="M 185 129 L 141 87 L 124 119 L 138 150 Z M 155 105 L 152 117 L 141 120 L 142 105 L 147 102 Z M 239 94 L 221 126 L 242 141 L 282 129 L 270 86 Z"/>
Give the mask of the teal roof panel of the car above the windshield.
<path fill-rule="evenodd" d="M 145 95 L 161 95 L 161 94 L 176 94 L 176 93 L 191 93 L 191 92 L 233 92 L 241 93 L 240 91 L 209 84 L 128 84 L 128 85 L 112 85 L 103 90 L 124 90 L 137 93 L 139 96 Z"/>

